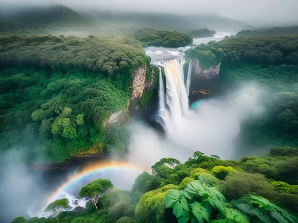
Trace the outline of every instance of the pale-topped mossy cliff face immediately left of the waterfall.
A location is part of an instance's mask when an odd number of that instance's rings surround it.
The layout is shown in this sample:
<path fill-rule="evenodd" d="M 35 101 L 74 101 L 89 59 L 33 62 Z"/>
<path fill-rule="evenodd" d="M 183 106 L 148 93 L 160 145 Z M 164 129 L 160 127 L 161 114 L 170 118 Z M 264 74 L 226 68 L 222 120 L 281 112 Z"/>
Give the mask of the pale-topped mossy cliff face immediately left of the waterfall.
<path fill-rule="evenodd" d="M 133 118 L 147 120 L 157 105 L 158 68 L 143 65 L 132 73 L 129 113 Z"/>

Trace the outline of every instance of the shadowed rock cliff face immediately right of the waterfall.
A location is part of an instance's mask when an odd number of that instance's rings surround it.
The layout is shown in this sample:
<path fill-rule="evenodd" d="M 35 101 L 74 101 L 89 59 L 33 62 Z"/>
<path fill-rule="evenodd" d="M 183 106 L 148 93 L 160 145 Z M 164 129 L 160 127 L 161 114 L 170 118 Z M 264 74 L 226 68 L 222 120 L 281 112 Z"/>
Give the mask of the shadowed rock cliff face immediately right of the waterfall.
<path fill-rule="evenodd" d="M 218 89 L 218 78 L 221 63 L 202 69 L 198 59 L 192 60 L 192 72 L 190 82 L 190 103 L 202 98 L 216 95 Z"/>

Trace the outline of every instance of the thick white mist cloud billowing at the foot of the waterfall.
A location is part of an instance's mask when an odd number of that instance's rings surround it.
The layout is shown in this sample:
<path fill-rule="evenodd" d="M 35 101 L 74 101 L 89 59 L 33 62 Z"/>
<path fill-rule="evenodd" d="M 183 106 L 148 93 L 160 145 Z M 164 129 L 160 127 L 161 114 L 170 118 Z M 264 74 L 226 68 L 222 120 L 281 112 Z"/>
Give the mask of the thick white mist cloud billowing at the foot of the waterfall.
<path fill-rule="evenodd" d="M 224 97 L 201 102 L 180 123 L 167 131 L 167 139 L 153 129 L 133 123 L 128 145 L 128 160 L 152 166 L 161 158 L 176 158 L 181 162 L 201 151 L 206 156 L 238 159 L 242 156 L 235 146 L 240 125 L 264 112 L 261 99 L 266 91 L 257 84 L 248 84 Z"/>

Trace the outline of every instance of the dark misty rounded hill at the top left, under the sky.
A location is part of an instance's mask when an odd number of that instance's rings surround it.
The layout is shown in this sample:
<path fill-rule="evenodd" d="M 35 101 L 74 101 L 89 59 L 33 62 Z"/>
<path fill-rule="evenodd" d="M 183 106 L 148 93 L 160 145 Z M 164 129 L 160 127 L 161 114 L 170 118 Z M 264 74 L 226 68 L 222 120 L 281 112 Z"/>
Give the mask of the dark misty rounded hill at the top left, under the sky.
<path fill-rule="evenodd" d="M 9 7 L 9 6 L 8 6 Z M 92 21 L 63 5 L 20 7 L 15 11 L 0 5 L 1 34 L 40 34 L 65 28 L 72 30 L 91 26 Z M 60 33 L 60 32 L 59 32 Z"/>

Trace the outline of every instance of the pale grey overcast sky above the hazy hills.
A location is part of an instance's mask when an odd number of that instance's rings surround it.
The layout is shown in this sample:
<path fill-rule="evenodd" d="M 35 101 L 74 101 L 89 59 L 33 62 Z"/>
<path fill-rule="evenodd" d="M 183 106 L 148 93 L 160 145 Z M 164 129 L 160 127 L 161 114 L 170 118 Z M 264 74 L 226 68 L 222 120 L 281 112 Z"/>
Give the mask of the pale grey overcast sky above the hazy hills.
<path fill-rule="evenodd" d="M 4 3 L 65 4 L 72 8 L 138 10 L 175 13 L 216 13 L 242 20 L 298 20 L 298 0 L 0 0 Z"/>

